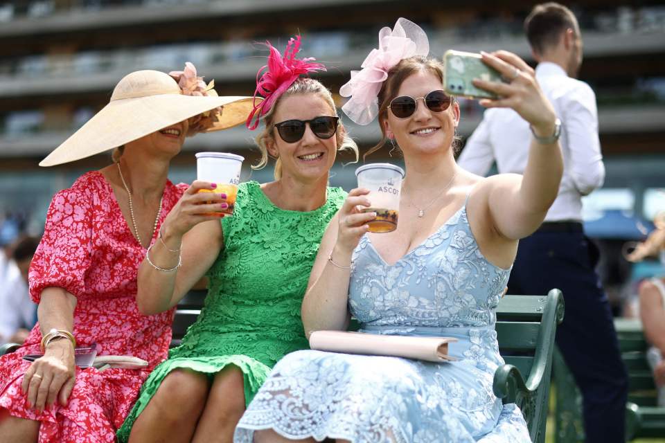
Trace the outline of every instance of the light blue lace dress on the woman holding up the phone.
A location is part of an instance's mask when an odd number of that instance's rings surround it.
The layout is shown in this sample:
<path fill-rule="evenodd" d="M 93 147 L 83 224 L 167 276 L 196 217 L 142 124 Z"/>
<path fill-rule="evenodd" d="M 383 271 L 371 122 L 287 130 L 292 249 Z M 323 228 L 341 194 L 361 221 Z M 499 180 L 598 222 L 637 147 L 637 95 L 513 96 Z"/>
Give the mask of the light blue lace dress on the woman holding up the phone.
<path fill-rule="evenodd" d="M 504 363 L 495 308 L 509 274 L 481 255 L 465 206 L 392 266 L 363 237 L 349 289 L 361 330 L 455 337 L 449 352 L 459 361 L 293 352 L 249 404 L 234 441 L 250 443 L 254 431 L 272 428 L 293 440 L 530 442 L 519 408 L 492 390 Z"/>

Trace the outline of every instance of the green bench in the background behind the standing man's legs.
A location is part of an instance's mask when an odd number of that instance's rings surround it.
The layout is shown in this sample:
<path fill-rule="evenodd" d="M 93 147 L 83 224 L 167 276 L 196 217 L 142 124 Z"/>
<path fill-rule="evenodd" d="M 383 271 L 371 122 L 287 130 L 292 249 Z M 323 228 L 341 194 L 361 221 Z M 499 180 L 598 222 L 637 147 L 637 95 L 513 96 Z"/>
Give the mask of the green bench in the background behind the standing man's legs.
<path fill-rule="evenodd" d="M 637 319 L 614 320 L 621 359 L 628 370 L 626 441 L 665 438 L 665 408 L 657 407 L 657 391 L 646 361 L 648 343 Z M 557 443 L 584 442 L 582 396 L 558 352 L 554 356 L 556 392 L 555 436 Z"/>

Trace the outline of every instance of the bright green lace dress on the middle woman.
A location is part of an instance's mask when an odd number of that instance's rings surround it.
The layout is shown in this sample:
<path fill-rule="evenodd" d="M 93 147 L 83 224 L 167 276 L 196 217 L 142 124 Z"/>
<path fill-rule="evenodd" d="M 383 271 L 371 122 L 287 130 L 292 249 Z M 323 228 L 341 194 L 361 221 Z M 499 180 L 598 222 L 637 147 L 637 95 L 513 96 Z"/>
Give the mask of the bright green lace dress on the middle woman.
<path fill-rule="evenodd" d="M 118 430 L 120 442 L 170 371 L 187 368 L 212 378 L 236 365 L 249 404 L 279 359 L 308 347 L 301 302 L 323 231 L 345 197 L 341 188 L 328 188 L 326 204 L 303 213 L 278 208 L 255 181 L 238 186 L 234 215 L 222 219 L 224 249 L 207 273 L 201 314 L 143 384 Z"/>

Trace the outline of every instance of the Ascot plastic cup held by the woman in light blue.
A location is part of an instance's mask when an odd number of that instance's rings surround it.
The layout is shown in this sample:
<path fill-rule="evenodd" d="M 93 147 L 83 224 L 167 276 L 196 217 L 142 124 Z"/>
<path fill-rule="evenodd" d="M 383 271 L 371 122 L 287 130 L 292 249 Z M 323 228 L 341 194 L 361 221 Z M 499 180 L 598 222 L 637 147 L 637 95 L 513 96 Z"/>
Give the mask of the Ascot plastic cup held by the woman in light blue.
<path fill-rule="evenodd" d="M 376 213 L 369 222 L 369 232 L 389 233 L 397 229 L 400 211 L 400 192 L 404 170 L 390 163 L 371 163 L 355 170 L 358 188 L 369 189 L 366 197 L 370 201 L 364 213 Z"/>

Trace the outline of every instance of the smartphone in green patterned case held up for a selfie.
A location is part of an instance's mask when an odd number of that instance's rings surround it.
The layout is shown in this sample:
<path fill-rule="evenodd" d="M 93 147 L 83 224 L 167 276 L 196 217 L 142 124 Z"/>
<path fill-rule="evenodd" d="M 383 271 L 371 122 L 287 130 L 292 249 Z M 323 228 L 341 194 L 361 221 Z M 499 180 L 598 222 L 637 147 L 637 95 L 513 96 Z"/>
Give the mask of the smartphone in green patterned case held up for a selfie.
<path fill-rule="evenodd" d="M 445 93 L 465 98 L 498 98 L 495 93 L 477 88 L 472 83 L 475 78 L 487 82 L 504 82 L 499 71 L 486 65 L 480 54 L 450 49 L 443 55 L 443 65 Z"/>

